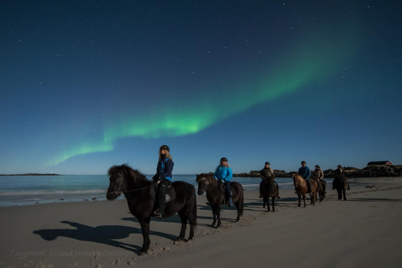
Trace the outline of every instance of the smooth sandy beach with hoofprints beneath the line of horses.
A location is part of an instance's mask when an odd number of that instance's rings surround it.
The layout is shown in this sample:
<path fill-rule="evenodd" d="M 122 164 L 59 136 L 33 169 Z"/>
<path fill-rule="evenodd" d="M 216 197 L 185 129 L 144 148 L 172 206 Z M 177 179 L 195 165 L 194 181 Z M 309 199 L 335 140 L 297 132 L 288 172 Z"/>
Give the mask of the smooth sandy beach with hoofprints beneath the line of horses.
<path fill-rule="evenodd" d="M 328 185 L 327 199 L 297 207 L 281 189 L 276 212 L 245 191 L 244 215 L 222 207 L 213 229 L 205 194 L 197 196 L 195 240 L 175 244 L 177 215 L 151 221 L 151 250 L 125 200 L 1 207 L 1 267 L 400 267 L 402 178 L 350 179 L 347 201 Z M 371 187 L 371 188 L 369 188 Z M 189 229 L 187 229 L 188 235 Z"/>

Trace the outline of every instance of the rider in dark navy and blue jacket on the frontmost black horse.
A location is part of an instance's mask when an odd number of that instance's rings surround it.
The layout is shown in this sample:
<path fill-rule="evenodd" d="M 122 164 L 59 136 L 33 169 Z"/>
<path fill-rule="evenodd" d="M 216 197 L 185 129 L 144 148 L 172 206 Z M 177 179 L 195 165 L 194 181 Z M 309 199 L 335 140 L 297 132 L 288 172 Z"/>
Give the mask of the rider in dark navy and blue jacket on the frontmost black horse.
<path fill-rule="evenodd" d="M 159 181 L 158 184 L 158 209 L 154 212 L 154 217 L 162 219 L 165 214 L 165 193 L 166 189 L 172 184 L 173 160 L 170 155 L 170 148 L 162 145 L 159 148 L 159 161 L 156 167 L 156 174 L 152 178 Z"/>

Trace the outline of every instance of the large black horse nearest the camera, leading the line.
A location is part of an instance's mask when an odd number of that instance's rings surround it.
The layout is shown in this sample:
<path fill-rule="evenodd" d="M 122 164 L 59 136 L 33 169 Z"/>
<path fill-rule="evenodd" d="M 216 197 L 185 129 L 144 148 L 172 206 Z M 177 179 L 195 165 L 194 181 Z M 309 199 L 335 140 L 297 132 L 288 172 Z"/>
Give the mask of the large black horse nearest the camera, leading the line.
<path fill-rule="evenodd" d="M 143 244 L 141 255 L 145 255 L 150 246 L 150 218 L 158 206 L 155 197 L 154 185 L 144 174 L 132 169 L 128 165 L 112 166 L 109 171 L 109 188 L 107 190 L 107 200 L 115 200 L 120 194 L 124 194 L 127 199 L 129 210 L 141 225 Z M 176 191 L 176 198 L 166 202 L 165 214 L 163 218 L 168 218 L 178 214 L 181 220 L 180 235 L 176 241 L 185 238 L 187 220 L 190 222 L 190 235 L 187 242 L 194 239 L 194 229 L 197 225 L 197 196 L 195 188 L 190 183 L 184 181 L 172 182 L 172 187 Z"/>

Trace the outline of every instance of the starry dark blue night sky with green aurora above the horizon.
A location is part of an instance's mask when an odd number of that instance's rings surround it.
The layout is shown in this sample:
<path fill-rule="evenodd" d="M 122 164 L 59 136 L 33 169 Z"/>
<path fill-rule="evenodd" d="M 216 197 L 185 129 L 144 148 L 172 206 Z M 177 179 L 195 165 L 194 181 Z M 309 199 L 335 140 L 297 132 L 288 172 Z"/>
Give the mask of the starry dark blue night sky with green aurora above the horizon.
<path fill-rule="evenodd" d="M 398 1 L 2 1 L 0 173 L 402 163 Z"/>

